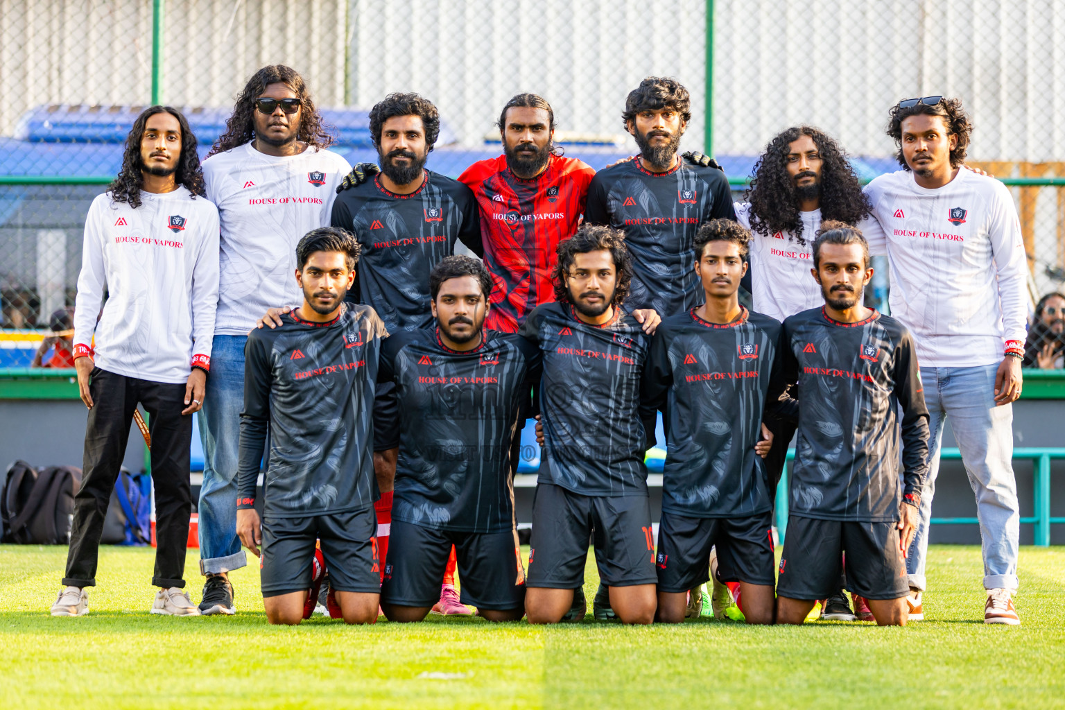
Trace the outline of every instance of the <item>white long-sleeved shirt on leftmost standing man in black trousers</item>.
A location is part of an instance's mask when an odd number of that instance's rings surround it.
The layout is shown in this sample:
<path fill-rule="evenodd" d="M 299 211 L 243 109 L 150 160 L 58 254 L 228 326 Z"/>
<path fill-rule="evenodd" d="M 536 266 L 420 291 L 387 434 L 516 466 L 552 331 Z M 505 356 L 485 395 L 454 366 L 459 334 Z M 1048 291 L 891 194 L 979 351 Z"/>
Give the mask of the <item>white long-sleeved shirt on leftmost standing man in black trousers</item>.
<path fill-rule="evenodd" d="M 97 323 L 96 316 L 108 302 Z M 218 301 L 218 211 L 184 187 L 141 193 L 141 207 L 93 200 L 75 301 L 75 356 L 152 382 L 208 369 Z M 95 345 L 94 345 L 95 335 Z"/>

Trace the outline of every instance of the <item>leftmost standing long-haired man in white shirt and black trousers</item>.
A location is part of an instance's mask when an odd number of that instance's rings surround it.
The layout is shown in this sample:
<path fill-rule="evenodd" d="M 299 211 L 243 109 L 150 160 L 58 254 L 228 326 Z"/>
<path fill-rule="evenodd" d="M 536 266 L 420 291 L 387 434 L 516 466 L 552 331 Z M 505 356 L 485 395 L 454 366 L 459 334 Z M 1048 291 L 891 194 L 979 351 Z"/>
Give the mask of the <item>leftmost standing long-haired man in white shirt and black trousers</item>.
<path fill-rule="evenodd" d="M 53 616 L 88 612 L 85 588 L 96 584 L 100 534 L 137 404 L 151 423 L 159 540 L 151 612 L 199 614 L 181 591 L 189 457 L 217 300 L 218 211 L 203 198 L 196 136 L 180 112 L 151 106 L 126 138 L 121 172 L 85 218 L 73 316 L 78 389 L 88 408 L 85 464 Z"/>

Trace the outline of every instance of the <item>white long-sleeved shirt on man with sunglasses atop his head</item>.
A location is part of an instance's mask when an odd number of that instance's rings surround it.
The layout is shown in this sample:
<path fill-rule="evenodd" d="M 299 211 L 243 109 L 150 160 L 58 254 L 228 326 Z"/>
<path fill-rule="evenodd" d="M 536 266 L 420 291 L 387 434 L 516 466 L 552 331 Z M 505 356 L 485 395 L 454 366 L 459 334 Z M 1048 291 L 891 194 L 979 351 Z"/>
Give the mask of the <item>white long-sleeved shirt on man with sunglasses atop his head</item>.
<path fill-rule="evenodd" d="M 865 192 L 883 230 L 866 238 L 888 255 L 891 315 L 913 333 L 922 366 L 992 365 L 1007 342 L 1023 348 L 1028 264 L 1005 185 L 962 169 L 929 189 L 899 170 Z"/>

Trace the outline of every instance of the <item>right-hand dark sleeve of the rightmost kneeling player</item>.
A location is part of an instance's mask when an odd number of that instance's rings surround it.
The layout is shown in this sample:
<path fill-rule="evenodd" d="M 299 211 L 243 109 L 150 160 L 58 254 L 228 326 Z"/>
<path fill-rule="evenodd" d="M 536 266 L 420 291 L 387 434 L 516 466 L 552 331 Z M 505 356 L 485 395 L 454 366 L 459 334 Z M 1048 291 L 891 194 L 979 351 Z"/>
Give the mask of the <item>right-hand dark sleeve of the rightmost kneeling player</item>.
<path fill-rule="evenodd" d="M 902 501 L 920 508 L 921 489 L 928 475 L 929 410 L 914 339 L 908 331 L 902 332 L 895 349 L 895 396 L 902 407 Z"/>

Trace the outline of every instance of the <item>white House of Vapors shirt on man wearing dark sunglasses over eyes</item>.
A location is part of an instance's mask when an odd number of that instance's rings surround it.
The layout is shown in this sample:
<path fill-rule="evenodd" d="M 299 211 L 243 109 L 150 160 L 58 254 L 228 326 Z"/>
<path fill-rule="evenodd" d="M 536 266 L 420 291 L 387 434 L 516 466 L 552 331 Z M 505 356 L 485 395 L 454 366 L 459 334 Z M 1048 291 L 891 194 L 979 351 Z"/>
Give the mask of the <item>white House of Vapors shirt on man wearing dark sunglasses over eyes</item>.
<path fill-rule="evenodd" d="M 302 302 L 296 245 L 329 226 L 337 185 L 350 169 L 330 150 L 278 158 L 251 143 L 203 161 L 207 196 L 222 220 L 216 334 L 245 335 L 266 309 Z"/>

